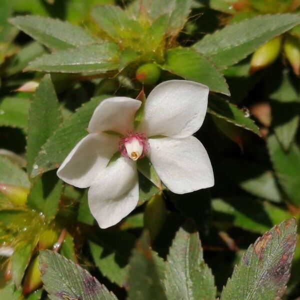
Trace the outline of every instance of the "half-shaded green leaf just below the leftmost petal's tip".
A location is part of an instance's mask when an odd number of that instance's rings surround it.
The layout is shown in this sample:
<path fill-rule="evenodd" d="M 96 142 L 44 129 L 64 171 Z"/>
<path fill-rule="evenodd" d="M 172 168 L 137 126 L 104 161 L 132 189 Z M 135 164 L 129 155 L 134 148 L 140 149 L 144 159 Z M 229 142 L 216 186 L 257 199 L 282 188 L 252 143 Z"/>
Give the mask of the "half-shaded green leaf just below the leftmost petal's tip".
<path fill-rule="evenodd" d="M 50 171 L 33 183 L 27 197 L 27 205 L 43 213 L 47 221 L 54 218 L 58 211 L 62 181 L 55 171 Z"/>

